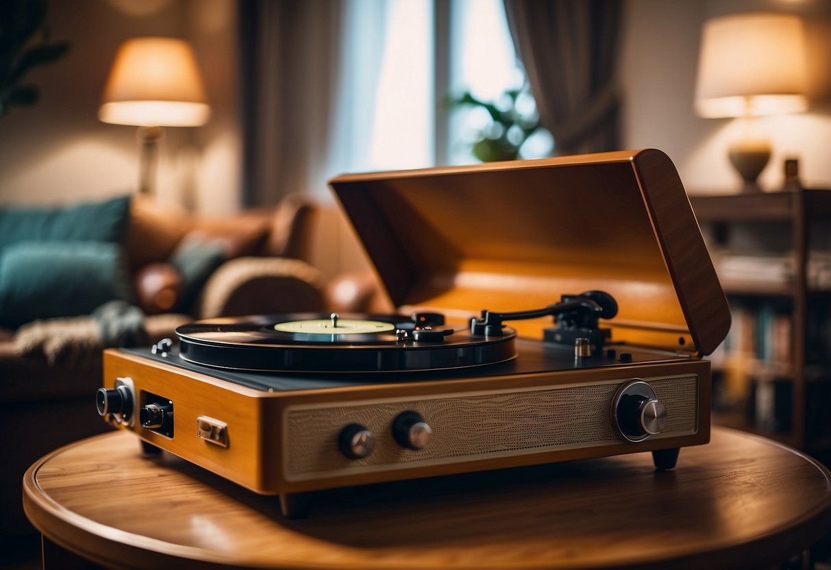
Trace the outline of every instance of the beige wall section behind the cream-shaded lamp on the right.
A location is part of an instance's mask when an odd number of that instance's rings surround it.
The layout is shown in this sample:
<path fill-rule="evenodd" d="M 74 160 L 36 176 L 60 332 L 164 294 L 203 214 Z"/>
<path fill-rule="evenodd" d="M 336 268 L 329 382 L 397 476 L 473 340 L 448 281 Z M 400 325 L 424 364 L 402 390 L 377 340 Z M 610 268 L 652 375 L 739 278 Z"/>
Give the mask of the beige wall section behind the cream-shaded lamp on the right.
<path fill-rule="evenodd" d="M 831 188 L 829 0 L 629 0 L 626 7 L 620 60 L 624 146 L 664 150 L 690 193 L 735 192 L 741 185 L 727 160 L 736 121 L 702 119 L 693 111 L 701 26 L 709 17 L 735 12 L 803 16 L 812 104 L 803 114 L 761 118 L 774 151 L 759 183 L 764 189 L 779 189 L 784 158 L 795 156 L 806 186 Z"/>

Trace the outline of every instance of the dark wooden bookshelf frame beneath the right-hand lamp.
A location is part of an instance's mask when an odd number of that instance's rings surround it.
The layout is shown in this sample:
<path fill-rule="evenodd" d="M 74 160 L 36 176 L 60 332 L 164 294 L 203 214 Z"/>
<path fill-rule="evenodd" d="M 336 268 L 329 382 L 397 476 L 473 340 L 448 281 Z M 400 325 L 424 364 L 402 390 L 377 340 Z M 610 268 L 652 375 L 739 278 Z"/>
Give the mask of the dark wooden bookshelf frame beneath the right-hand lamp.
<path fill-rule="evenodd" d="M 821 227 L 826 233 L 831 225 L 831 191 L 803 189 L 762 194 L 692 194 L 690 203 L 701 226 L 709 225 L 708 229 L 718 242 L 721 253 L 730 252 L 734 247 L 743 251 L 748 243 L 751 243 L 749 239 L 756 239 L 755 246 L 759 248 L 760 253 L 770 253 L 773 249 L 781 253 L 782 247 L 789 248 L 795 263 L 793 278 L 788 283 L 735 280 L 725 280 L 721 283 L 725 293 L 731 297 L 734 310 L 741 308 L 743 312 L 760 314 L 767 310 L 765 307 L 773 306 L 776 314 L 789 315 L 792 364 L 783 371 L 780 366 L 765 369 L 764 365 L 755 366 L 749 361 L 748 369 L 745 370 L 749 378 L 759 381 L 789 383 L 788 390 L 776 390 L 773 396 L 781 398 L 775 402 L 777 408 L 784 406 L 785 410 L 789 410 L 788 432 L 771 433 L 769 430 L 762 430 L 755 424 L 753 417 L 750 417 L 751 414 L 743 413 L 743 410 L 727 413 L 714 411 L 713 422 L 772 437 L 801 450 L 816 450 L 820 447 L 831 450 L 831 436 L 825 435 L 825 428 L 818 427 L 821 422 L 818 424 L 816 402 L 810 400 L 816 397 L 817 384 L 831 382 L 831 359 L 820 364 L 808 362 L 809 346 L 813 346 L 808 335 L 818 328 L 817 323 L 811 322 L 814 318 L 811 312 L 812 303 L 816 302 L 820 295 L 828 295 L 828 292 L 810 286 L 810 240 L 819 224 L 823 224 Z M 770 233 L 769 229 L 762 225 L 768 223 L 784 225 L 788 233 L 779 228 Z M 752 224 L 760 224 L 760 227 L 748 228 L 748 225 Z M 733 228 L 733 225 L 741 227 Z M 736 238 L 734 242 L 731 240 L 733 236 L 740 238 Z M 773 240 L 779 243 L 772 243 Z M 755 321 L 751 319 L 750 322 Z M 821 327 L 827 324 L 819 323 Z M 743 329 L 740 334 L 746 341 L 746 330 Z M 770 338 L 768 340 L 770 342 Z M 750 390 L 748 387 L 748 397 L 751 394 Z M 822 391 L 824 390 L 823 387 Z M 812 394 L 814 396 L 811 396 Z"/>

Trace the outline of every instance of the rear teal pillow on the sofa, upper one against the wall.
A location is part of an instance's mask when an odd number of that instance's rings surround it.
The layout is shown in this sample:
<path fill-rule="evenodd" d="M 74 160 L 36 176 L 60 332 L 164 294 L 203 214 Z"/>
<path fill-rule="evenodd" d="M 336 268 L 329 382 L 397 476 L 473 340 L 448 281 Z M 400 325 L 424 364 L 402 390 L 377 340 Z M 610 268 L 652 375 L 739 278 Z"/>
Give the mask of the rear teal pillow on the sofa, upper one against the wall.
<path fill-rule="evenodd" d="M 22 242 L 107 242 L 126 245 L 130 196 L 60 208 L 0 208 L 0 249 Z"/>

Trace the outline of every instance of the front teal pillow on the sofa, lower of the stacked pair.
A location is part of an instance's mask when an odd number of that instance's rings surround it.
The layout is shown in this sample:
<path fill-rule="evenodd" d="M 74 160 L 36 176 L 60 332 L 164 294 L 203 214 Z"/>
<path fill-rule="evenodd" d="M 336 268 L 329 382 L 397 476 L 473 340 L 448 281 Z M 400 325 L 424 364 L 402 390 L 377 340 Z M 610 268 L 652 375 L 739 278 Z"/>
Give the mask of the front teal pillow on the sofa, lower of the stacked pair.
<path fill-rule="evenodd" d="M 117 243 L 21 242 L 0 252 L 0 326 L 86 315 L 133 297 Z"/>

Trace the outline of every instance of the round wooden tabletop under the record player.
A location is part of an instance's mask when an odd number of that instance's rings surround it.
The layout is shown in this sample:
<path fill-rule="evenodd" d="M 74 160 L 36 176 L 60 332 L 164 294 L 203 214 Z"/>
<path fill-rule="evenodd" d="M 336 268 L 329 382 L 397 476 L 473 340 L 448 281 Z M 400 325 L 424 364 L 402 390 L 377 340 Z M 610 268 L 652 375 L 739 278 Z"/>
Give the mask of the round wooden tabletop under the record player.
<path fill-rule="evenodd" d="M 831 527 L 829 472 L 716 428 L 674 471 L 649 454 L 263 498 L 124 432 L 47 455 L 23 481 L 45 536 L 113 568 L 753 568 Z"/>

